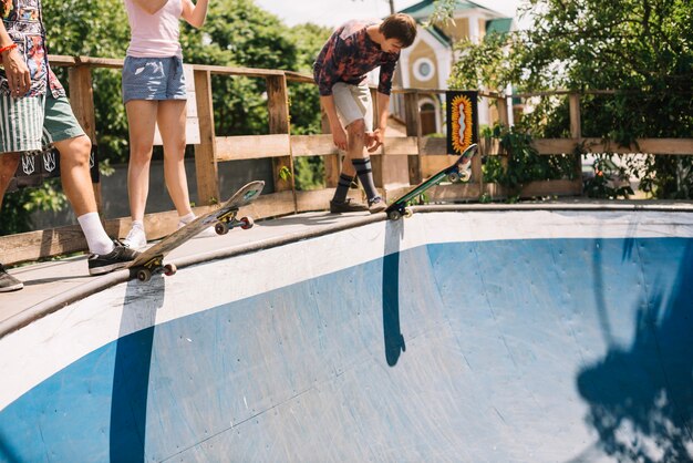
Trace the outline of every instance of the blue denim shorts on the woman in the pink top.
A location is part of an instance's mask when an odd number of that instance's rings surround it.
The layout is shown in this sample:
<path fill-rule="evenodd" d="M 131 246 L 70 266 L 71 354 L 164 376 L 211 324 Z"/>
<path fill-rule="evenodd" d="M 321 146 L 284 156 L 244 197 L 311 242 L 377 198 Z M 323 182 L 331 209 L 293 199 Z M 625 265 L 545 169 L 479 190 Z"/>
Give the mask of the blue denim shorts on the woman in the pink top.
<path fill-rule="evenodd" d="M 187 100 L 183 60 L 126 56 L 123 103 L 131 100 Z"/>

